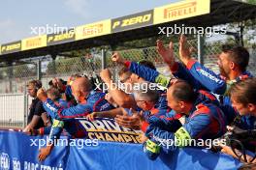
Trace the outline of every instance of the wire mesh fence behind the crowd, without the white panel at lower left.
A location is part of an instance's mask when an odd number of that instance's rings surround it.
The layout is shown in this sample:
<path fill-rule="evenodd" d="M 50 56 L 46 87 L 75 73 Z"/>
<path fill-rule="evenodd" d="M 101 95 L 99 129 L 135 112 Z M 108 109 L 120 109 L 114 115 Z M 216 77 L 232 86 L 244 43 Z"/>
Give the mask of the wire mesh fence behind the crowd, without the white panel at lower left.
<path fill-rule="evenodd" d="M 203 62 L 206 67 L 210 70 L 218 72 L 217 67 L 217 56 L 221 52 L 221 45 L 224 42 L 211 42 L 206 43 L 204 46 L 204 57 Z M 189 41 L 191 46 L 197 49 L 197 40 Z M 178 44 L 174 44 L 174 49 L 176 56 L 178 56 Z M 253 74 L 256 73 L 256 50 L 249 48 L 250 51 L 250 64 L 248 71 Z M 155 64 L 159 71 L 168 72 L 168 69 L 164 67 L 162 58 L 157 53 L 156 47 L 146 47 L 140 49 L 128 49 L 119 51 L 121 55 L 131 61 L 149 60 Z M 118 67 L 114 65 L 111 61 L 112 51 L 107 51 L 106 53 L 106 66 L 111 68 L 113 74 L 116 74 Z M 58 60 L 42 60 L 42 76 L 41 80 L 43 85 L 48 88 L 48 81 L 52 77 L 61 77 L 67 79 L 71 74 L 74 73 L 85 73 L 87 75 L 92 75 L 93 72 L 98 73 L 102 68 L 101 53 L 92 54 L 91 58 L 86 57 L 75 57 L 66 58 Z M 197 53 L 194 55 L 197 58 Z M 178 58 L 177 58 L 178 60 Z M 37 65 L 36 64 L 26 64 L 14 67 L 0 68 L 0 94 L 9 93 L 24 93 L 25 85 L 27 81 L 37 78 Z"/>

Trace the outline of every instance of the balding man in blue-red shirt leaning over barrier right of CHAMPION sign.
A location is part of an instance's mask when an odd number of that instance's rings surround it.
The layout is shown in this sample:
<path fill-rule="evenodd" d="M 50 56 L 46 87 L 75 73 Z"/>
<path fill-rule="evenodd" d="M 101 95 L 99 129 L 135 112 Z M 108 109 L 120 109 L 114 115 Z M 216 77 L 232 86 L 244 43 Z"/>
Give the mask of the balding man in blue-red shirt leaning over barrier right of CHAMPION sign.
<path fill-rule="evenodd" d="M 207 93 L 207 92 L 205 92 Z M 174 151 L 176 147 L 189 146 L 186 142 L 191 139 L 215 139 L 226 132 L 226 120 L 222 110 L 214 103 L 211 94 L 194 92 L 185 81 L 178 80 L 167 92 L 168 105 L 176 112 L 187 116 L 185 123 L 176 131 L 173 121 L 155 119 L 149 121 L 145 135 L 144 151 L 151 159 L 160 152 L 159 144 L 164 149 Z M 172 140 L 172 145 L 169 141 Z M 176 145 L 175 145 L 176 144 Z"/>

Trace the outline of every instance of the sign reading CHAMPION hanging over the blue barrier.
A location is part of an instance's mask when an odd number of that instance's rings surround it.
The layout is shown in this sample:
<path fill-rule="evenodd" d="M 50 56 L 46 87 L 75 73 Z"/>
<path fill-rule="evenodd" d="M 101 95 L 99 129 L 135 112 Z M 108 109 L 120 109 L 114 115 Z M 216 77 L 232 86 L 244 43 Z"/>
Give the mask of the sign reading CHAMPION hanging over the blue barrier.
<path fill-rule="evenodd" d="M 111 142 L 141 143 L 141 130 L 120 127 L 113 119 L 97 118 L 95 121 L 79 119 L 87 131 L 87 138 Z"/>

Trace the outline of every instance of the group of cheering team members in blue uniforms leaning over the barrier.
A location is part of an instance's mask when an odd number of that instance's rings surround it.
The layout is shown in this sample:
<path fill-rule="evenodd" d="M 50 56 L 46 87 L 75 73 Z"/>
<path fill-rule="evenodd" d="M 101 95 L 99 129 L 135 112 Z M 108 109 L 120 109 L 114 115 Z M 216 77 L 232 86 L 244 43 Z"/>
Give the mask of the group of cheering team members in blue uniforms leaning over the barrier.
<path fill-rule="evenodd" d="M 114 88 L 112 72 L 102 70 L 100 77 L 108 92 L 95 90 L 90 78 L 73 75 L 65 84 L 54 78 L 48 91 L 36 89 L 36 99 L 50 118 L 49 126 L 25 128 L 32 135 L 49 134 L 59 138 L 63 129 L 72 137 L 85 137 L 86 132 L 75 118 L 94 121 L 97 117 L 112 118 L 126 128 L 142 129 L 144 153 L 151 159 L 160 152 L 172 152 L 179 147 L 189 147 L 186 140 L 221 138 L 227 132 L 243 131 L 252 135 L 256 129 L 256 78 L 246 71 L 249 53 L 242 46 L 223 45 L 218 56 L 220 74 L 204 67 L 192 57 L 186 37 L 179 38 L 178 58 L 173 42 L 165 47 L 157 41 L 157 51 L 174 77 L 159 71 L 149 61 L 133 62 L 113 53 L 112 62 L 122 66 L 119 82 L 125 90 Z M 139 85 L 139 88 L 133 88 Z M 140 86 L 142 85 L 142 86 Z M 143 85 L 146 85 L 146 90 Z M 41 85 L 42 86 L 42 85 Z M 151 88 L 152 87 L 152 88 Z M 64 94 L 64 98 L 63 95 Z M 254 135 L 254 134 L 253 134 Z M 168 141 L 177 141 L 170 145 Z M 166 142 L 166 145 L 164 143 Z M 248 141 L 255 151 L 255 141 Z M 39 159 L 44 160 L 54 144 L 40 149 Z M 220 152 L 255 163 L 254 156 L 240 148 L 220 144 Z M 249 150 L 249 149 L 248 149 Z"/>

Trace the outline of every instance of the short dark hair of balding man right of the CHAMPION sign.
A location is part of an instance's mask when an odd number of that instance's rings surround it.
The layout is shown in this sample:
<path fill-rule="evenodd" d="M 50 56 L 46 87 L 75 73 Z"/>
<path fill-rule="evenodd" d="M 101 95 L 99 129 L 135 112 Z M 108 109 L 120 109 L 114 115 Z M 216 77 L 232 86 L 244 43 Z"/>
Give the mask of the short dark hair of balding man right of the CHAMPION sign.
<path fill-rule="evenodd" d="M 173 97 L 177 100 L 194 102 L 196 93 L 194 89 L 184 80 L 178 79 L 171 88 L 173 88 Z"/>

